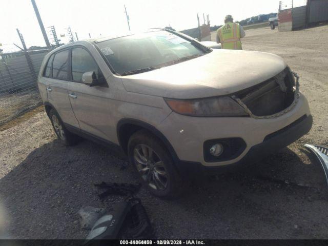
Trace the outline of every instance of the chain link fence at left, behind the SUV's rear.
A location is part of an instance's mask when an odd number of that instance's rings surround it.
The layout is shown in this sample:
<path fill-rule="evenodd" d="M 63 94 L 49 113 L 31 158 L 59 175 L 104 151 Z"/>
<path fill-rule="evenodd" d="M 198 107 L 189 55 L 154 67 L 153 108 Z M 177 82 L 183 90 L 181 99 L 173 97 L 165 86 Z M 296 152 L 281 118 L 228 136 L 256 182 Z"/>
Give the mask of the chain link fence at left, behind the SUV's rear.
<path fill-rule="evenodd" d="M 0 125 L 42 104 L 37 75 L 51 50 L 0 54 Z"/>

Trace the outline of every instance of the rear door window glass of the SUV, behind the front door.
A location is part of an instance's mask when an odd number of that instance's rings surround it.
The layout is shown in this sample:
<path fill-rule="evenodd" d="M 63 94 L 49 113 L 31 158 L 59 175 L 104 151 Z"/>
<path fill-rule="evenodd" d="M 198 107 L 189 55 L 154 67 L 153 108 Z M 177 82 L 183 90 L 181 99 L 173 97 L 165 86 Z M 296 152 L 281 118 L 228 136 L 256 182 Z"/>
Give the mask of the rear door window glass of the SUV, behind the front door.
<path fill-rule="evenodd" d="M 69 50 L 60 51 L 55 54 L 52 65 L 52 77 L 68 79 L 68 54 Z"/>

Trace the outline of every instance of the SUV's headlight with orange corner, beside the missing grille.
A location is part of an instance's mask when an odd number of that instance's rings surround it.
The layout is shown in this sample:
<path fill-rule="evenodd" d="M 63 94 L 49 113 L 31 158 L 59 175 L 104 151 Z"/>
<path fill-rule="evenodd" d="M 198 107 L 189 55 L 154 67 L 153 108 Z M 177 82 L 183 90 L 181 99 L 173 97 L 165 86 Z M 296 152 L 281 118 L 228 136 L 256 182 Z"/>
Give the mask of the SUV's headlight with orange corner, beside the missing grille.
<path fill-rule="evenodd" d="M 168 106 L 176 113 L 189 116 L 220 117 L 249 116 L 244 109 L 228 96 L 200 99 L 169 99 Z"/>

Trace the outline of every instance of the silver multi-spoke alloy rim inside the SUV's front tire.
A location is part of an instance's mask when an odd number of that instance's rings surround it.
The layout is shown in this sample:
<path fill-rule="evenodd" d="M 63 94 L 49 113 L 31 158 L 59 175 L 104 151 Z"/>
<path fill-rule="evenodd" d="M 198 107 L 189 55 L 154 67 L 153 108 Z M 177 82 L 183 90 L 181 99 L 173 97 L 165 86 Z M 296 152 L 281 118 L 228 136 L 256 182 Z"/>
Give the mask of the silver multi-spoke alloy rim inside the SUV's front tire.
<path fill-rule="evenodd" d="M 134 148 L 133 158 L 142 179 L 154 190 L 165 190 L 169 178 L 164 162 L 156 152 L 147 145 L 140 144 Z"/>

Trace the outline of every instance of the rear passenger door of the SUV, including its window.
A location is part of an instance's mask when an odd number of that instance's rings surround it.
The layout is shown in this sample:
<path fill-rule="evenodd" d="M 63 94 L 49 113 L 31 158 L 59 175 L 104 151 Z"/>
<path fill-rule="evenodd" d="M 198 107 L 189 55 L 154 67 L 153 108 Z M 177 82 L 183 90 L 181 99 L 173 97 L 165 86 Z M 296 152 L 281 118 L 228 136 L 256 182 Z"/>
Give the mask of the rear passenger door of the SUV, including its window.
<path fill-rule="evenodd" d="M 47 94 L 49 103 L 53 105 L 64 123 L 78 128 L 78 121 L 73 113 L 68 97 L 68 86 L 71 78 L 69 58 L 70 49 L 54 54 L 52 68 L 47 79 Z"/>

